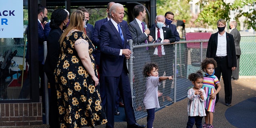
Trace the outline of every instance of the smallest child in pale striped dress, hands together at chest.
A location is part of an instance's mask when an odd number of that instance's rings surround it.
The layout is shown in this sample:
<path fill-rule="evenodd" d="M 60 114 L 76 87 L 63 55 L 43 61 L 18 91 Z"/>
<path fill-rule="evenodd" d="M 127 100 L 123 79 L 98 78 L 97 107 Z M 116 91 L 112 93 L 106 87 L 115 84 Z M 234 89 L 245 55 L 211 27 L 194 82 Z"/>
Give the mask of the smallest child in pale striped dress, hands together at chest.
<path fill-rule="evenodd" d="M 188 123 L 186 128 L 202 128 L 202 119 L 205 114 L 204 101 L 206 94 L 202 89 L 204 76 L 201 71 L 188 75 L 188 79 L 192 81 L 193 88 L 188 90 Z"/>

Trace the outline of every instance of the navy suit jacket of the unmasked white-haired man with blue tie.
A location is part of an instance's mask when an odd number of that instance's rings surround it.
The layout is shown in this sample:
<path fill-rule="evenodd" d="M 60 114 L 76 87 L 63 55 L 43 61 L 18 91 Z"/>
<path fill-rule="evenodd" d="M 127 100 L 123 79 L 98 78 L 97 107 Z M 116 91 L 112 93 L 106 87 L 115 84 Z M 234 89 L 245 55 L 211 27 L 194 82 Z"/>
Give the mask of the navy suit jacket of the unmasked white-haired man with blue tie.
<path fill-rule="evenodd" d="M 126 24 L 126 27 L 127 26 L 128 25 Z M 100 71 L 103 76 L 118 77 L 121 75 L 123 68 L 128 73 L 125 63 L 126 58 L 124 56 L 119 56 L 119 53 L 120 49 L 130 49 L 127 41 L 127 35 L 130 35 L 130 32 L 126 32 L 125 24 L 120 23 L 120 27 L 124 35 L 124 45 L 122 44 L 122 39 L 118 30 L 116 30 L 116 27 L 111 20 L 103 24 L 100 28 Z"/>

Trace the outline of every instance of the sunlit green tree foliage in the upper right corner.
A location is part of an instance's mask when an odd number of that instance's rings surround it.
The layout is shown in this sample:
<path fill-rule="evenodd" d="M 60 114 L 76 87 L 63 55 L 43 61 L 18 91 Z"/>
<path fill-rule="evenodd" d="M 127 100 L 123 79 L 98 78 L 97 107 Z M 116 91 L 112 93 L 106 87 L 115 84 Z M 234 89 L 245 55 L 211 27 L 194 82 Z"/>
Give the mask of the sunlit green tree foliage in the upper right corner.
<path fill-rule="evenodd" d="M 188 0 L 190 2 L 192 0 Z M 208 24 L 216 28 L 216 21 L 224 19 L 226 22 L 230 21 L 230 11 L 235 12 L 235 20 L 244 17 L 246 28 L 253 28 L 256 30 L 256 1 L 255 0 L 233 0 L 233 2 L 226 2 L 227 0 L 199 0 L 201 12 L 195 22 Z M 249 9 L 245 10 L 244 7 Z"/>

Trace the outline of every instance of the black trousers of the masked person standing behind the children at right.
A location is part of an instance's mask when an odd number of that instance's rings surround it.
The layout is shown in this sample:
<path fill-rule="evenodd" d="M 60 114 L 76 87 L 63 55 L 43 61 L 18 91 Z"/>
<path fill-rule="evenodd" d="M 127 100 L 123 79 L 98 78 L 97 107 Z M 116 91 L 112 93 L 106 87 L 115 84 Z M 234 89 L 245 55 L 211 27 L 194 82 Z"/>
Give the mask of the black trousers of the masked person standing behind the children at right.
<path fill-rule="evenodd" d="M 217 68 L 215 68 L 215 76 L 220 81 L 220 76 L 222 74 L 223 82 L 224 82 L 224 91 L 225 91 L 225 103 L 231 104 L 232 102 L 232 86 L 231 86 L 231 74 L 232 69 L 228 67 L 228 58 L 214 58 L 217 62 Z M 218 87 L 215 86 L 217 89 Z M 216 101 L 217 103 L 219 100 L 219 94 L 216 95 Z"/>

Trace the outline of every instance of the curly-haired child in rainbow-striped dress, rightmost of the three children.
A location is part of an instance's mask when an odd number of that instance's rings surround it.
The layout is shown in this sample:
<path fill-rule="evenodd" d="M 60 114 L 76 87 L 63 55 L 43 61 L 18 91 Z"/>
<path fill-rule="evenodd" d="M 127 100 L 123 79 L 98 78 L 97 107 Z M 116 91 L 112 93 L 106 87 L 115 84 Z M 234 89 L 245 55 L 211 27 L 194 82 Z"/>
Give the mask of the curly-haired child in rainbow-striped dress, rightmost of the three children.
<path fill-rule="evenodd" d="M 215 107 L 215 97 L 220 92 L 221 86 L 217 76 L 214 75 L 214 69 L 217 62 L 213 58 L 205 58 L 201 63 L 201 69 L 206 73 L 204 76 L 203 89 L 206 93 L 206 101 L 204 102 L 206 116 L 203 128 L 213 128 L 213 112 Z M 215 89 L 217 86 L 217 89 Z"/>

